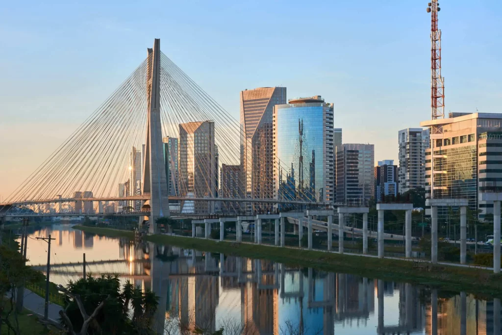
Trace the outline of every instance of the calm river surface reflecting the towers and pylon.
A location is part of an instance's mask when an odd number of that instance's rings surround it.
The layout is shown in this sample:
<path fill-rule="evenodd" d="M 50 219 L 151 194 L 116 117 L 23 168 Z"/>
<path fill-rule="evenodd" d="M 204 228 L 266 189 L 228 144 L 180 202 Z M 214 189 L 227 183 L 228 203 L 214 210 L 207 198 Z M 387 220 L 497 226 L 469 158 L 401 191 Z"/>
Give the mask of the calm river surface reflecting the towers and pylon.
<path fill-rule="evenodd" d="M 295 268 L 266 260 L 135 244 L 56 225 L 32 234 L 56 238 L 51 279 L 119 273 L 159 297 L 158 330 L 180 325 L 246 334 L 500 334 L 500 300 L 465 292 Z M 44 265 L 46 244 L 29 239 Z M 41 267 L 43 269 L 43 266 Z M 166 330 L 167 329 L 167 330 Z M 245 331 L 244 331 L 244 330 Z"/>

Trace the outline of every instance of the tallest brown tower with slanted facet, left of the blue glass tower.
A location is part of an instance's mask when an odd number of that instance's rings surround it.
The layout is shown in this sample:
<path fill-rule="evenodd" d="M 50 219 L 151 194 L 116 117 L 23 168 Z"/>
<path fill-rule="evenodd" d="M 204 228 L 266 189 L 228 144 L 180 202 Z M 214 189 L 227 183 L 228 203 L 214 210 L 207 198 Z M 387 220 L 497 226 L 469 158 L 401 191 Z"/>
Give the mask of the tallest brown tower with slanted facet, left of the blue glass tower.
<path fill-rule="evenodd" d="M 274 196 L 272 115 L 276 104 L 286 103 L 286 87 L 260 87 L 240 92 L 242 167 L 245 196 Z M 270 204 L 253 204 L 249 211 L 270 210 Z"/>

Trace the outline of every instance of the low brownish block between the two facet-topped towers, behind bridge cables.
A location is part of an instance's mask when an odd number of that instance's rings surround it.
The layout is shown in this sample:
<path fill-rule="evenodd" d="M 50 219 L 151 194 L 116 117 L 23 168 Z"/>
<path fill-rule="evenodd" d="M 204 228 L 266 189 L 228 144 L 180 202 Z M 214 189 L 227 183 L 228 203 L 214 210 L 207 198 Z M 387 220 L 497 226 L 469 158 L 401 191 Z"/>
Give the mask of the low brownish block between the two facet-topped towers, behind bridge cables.
<path fill-rule="evenodd" d="M 221 164 L 220 169 L 220 196 L 222 198 L 243 198 L 242 167 L 240 165 Z M 223 201 L 221 203 L 223 213 L 239 213 L 239 202 Z"/>

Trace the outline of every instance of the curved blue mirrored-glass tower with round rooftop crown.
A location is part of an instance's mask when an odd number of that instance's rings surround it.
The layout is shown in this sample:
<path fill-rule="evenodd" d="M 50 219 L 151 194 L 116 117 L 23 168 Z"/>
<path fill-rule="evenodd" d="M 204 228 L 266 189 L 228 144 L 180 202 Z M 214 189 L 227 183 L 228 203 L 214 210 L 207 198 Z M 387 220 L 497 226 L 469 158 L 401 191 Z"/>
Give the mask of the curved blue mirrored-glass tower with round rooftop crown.
<path fill-rule="evenodd" d="M 320 95 L 290 99 L 274 107 L 273 125 L 275 197 L 333 202 L 333 104 Z"/>

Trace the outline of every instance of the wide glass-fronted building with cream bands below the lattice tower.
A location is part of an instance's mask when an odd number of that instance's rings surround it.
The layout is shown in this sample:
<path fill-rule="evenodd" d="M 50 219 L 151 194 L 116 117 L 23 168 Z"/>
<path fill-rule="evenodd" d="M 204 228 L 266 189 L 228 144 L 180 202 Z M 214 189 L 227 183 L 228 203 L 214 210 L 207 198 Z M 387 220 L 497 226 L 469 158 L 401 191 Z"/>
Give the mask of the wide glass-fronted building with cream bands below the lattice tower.
<path fill-rule="evenodd" d="M 426 196 L 467 199 L 480 219 L 493 214 L 493 203 L 483 201 L 482 193 L 502 190 L 502 114 L 454 113 L 420 126 L 437 128 L 431 135 L 434 167 L 431 148 L 425 154 Z M 438 207 L 438 216 L 447 213 Z"/>

